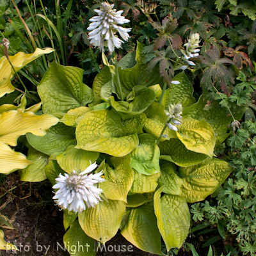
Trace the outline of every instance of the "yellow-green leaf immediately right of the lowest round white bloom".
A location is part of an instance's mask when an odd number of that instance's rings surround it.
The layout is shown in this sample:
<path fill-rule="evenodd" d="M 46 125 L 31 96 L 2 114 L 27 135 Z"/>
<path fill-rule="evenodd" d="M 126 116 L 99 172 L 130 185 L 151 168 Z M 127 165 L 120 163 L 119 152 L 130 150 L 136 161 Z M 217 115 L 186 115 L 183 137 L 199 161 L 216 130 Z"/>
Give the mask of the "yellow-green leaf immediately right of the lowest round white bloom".
<path fill-rule="evenodd" d="M 129 156 L 111 157 L 110 164 L 104 172 L 106 181 L 99 184 L 99 188 L 104 191 L 104 195 L 111 200 L 127 202 L 127 194 L 133 182 L 133 171 L 130 166 Z"/>

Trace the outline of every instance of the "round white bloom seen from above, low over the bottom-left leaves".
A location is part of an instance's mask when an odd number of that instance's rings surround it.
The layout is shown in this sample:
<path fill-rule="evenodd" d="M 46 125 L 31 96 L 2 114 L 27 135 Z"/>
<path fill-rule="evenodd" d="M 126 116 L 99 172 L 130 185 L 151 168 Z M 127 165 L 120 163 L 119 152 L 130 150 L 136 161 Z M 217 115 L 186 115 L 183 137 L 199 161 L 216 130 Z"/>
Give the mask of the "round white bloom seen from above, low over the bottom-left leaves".
<path fill-rule="evenodd" d="M 61 207 L 68 211 L 82 212 L 87 207 L 94 207 L 101 201 L 102 189 L 94 184 L 105 181 L 102 172 L 88 174 L 97 167 L 96 163 L 90 164 L 83 172 L 77 174 L 74 170 L 71 175 L 64 173 L 56 178 L 56 184 L 52 187 L 59 189 L 52 199 Z M 85 202 L 85 204 L 84 204 Z"/>

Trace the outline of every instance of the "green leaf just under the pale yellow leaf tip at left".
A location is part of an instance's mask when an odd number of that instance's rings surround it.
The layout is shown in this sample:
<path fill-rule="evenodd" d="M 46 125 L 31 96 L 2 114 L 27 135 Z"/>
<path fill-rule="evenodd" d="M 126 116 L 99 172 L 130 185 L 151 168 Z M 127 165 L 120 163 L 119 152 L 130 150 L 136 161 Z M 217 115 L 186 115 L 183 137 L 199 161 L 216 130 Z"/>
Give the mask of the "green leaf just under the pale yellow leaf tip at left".
<path fill-rule="evenodd" d="M 31 133 L 26 136 L 33 148 L 49 156 L 54 152 L 64 152 L 69 145 L 76 144 L 75 128 L 65 124 L 52 126 L 44 137 Z"/>

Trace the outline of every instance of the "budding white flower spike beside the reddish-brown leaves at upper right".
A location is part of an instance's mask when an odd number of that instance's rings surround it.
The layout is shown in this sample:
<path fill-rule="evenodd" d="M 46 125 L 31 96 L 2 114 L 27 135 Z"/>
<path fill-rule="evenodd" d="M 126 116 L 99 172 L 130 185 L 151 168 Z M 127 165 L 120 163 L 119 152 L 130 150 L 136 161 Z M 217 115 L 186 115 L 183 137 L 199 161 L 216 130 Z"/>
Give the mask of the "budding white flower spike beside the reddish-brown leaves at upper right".
<path fill-rule="evenodd" d="M 200 43 L 199 39 L 200 35 L 198 33 L 192 34 L 188 39 L 188 43 L 183 45 L 184 47 L 186 47 L 186 51 L 182 49 L 180 50 L 182 54 L 184 54 L 184 60 L 187 61 L 188 64 L 191 66 L 195 66 L 195 63 L 193 61 L 190 61 L 189 59 L 197 57 L 199 55 L 198 52 L 200 52 L 200 49 L 196 49 Z"/>

